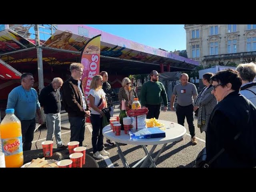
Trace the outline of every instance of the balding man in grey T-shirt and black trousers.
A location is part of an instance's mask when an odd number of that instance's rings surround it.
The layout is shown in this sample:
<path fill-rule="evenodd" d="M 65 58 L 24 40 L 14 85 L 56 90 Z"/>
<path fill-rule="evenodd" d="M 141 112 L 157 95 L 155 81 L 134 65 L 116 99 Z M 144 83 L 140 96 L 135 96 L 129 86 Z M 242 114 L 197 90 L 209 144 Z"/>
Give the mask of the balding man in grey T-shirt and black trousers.
<path fill-rule="evenodd" d="M 188 122 L 188 129 L 191 135 L 192 144 L 197 144 L 194 126 L 194 100 L 197 96 L 196 86 L 188 82 L 188 74 L 180 75 L 180 83 L 176 84 L 172 90 L 171 110 L 174 110 L 174 101 L 177 96 L 176 115 L 178 124 L 184 126 L 185 117 Z M 194 100 L 193 100 L 194 98 Z M 181 139 L 183 140 L 183 138 Z"/>

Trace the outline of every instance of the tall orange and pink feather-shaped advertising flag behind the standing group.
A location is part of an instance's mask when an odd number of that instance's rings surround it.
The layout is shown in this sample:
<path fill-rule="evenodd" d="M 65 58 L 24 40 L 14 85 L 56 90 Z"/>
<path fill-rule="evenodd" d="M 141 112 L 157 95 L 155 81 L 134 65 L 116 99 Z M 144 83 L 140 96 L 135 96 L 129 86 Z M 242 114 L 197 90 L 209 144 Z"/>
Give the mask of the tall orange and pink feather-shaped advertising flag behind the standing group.
<path fill-rule="evenodd" d="M 97 35 L 91 38 L 82 51 L 81 63 L 84 66 L 82 86 L 86 98 L 88 98 L 93 76 L 100 74 L 100 36 Z"/>

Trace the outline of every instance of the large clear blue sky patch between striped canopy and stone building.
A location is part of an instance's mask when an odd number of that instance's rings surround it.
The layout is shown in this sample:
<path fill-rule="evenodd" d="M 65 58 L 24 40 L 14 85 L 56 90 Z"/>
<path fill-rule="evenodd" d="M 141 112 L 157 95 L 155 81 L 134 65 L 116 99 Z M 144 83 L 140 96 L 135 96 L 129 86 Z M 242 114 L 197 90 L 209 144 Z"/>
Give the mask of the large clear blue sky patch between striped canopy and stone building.
<path fill-rule="evenodd" d="M 87 26 L 120 36 L 150 47 L 167 51 L 186 49 L 186 31 L 184 25 L 91 25 Z"/>

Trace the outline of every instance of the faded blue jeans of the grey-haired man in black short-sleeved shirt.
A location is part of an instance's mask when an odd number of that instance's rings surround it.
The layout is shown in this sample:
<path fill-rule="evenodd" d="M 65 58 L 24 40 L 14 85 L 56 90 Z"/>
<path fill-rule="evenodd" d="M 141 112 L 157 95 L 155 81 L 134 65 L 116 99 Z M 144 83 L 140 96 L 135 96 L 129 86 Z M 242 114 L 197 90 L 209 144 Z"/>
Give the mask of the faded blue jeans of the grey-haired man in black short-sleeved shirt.
<path fill-rule="evenodd" d="M 48 113 L 44 114 L 46 127 L 47 127 L 47 141 L 53 140 L 53 135 L 55 135 L 57 147 L 63 145 L 61 140 L 61 131 L 60 131 L 60 113 Z"/>

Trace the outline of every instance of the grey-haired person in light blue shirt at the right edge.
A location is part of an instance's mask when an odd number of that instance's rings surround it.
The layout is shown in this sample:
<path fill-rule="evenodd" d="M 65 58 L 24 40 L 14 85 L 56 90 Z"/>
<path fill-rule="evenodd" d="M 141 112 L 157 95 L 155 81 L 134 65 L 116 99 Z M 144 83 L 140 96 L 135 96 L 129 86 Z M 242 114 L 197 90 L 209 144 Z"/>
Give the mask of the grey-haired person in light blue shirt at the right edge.
<path fill-rule="evenodd" d="M 242 78 L 240 93 L 256 106 L 256 65 L 253 62 L 240 64 L 236 70 Z"/>

